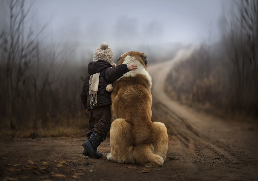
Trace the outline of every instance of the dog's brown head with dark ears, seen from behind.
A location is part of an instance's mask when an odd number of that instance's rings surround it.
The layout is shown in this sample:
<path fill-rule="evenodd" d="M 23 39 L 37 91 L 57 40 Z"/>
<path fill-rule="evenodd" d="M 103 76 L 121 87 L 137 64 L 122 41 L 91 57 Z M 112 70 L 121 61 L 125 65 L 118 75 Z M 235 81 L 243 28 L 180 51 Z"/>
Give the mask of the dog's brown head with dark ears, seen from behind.
<path fill-rule="evenodd" d="M 132 52 L 126 52 L 124 54 L 122 54 L 119 59 L 118 59 L 118 65 L 121 65 L 124 63 L 125 59 L 128 59 L 128 56 L 132 57 L 134 60 L 138 60 L 138 62 L 140 64 L 142 64 L 144 66 L 145 69 L 146 68 L 146 65 L 147 65 L 147 56 L 144 54 L 144 53 L 141 53 L 141 52 L 136 52 L 136 51 L 132 51 Z M 126 58 L 127 57 L 127 58 Z M 127 61 L 126 61 L 127 62 Z M 131 61 L 130 62 L 131 64 L 138 64 L 134 61 Z"/>

